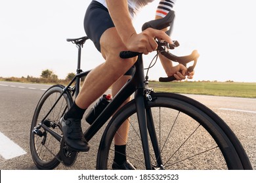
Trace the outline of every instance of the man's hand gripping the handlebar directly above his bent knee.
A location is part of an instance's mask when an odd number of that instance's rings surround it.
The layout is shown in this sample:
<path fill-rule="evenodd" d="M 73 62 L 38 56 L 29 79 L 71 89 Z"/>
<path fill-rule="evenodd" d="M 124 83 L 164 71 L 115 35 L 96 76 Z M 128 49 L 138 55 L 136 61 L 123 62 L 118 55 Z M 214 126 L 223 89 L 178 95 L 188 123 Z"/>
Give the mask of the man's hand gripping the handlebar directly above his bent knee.
<path fill-rule="evenodd" d="M 158 48 L 158 44 L 155 41 L 156 37 L 160 40 L 165 40 L 169 44 L 173 43 L 164 31 L 152 28 L 148 28 L 139 34 L 133 33 L 124 43 L 129 51 L 148 54 Z"/>

